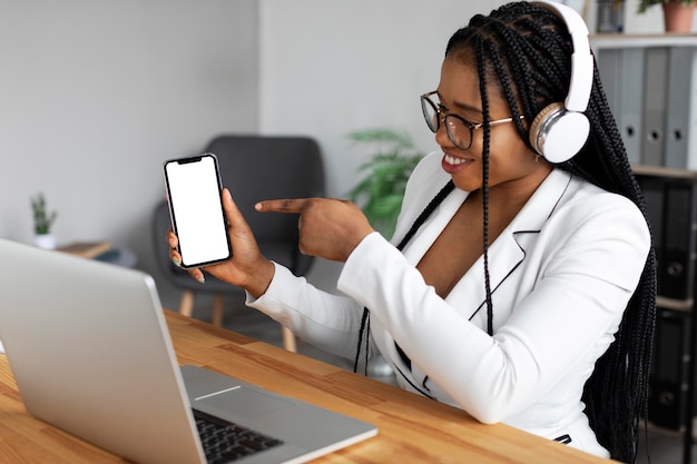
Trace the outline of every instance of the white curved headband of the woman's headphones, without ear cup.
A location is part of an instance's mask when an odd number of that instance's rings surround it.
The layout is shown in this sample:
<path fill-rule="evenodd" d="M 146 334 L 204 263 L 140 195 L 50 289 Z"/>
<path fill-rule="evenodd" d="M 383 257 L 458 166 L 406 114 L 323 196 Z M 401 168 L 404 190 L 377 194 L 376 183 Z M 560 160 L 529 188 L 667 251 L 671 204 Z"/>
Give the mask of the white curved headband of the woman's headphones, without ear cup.
<path fill-rule="evenodd" d="M 534 3 L 552 10 L 567 24 L 573 43 L 573 53 L 571 55 L 571 81 L 565 107 L 569 111 L 586 111 L 593 83 L 593 57 L 588 41 L 588 26 L 571 7 L 548 0 L 538 0 Z"/>

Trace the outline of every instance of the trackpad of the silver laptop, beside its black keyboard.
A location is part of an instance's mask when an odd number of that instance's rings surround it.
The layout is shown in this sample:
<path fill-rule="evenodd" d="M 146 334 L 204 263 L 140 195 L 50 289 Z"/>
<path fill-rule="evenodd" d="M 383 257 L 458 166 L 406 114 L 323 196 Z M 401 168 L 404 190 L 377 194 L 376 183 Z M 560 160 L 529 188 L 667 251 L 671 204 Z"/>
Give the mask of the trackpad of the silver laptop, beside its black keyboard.
<path fill-rule="evenodd" d="M 238 388 L 208 395 L 200 399 L 195 399 L 192 406 L 197 408 L 200 407 L 200 405 L 217 411 L 228 411 L 244 418 L 254 418 L 284 409 L 294 404 L 263 392 L 240 386 Z"/>

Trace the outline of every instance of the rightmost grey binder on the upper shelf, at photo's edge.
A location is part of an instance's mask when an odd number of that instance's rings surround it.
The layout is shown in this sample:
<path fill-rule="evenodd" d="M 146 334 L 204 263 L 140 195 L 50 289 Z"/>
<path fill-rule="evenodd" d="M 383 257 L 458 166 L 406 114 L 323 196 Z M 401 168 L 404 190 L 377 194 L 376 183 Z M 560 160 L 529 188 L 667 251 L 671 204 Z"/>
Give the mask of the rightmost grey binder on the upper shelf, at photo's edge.
<path fill-rule="evenodd" d="M 694 108 L 695 83 L 693 67 L 695 47 L 671 47 L 668 66 L 668 98 L 666 115 L 665 166 L 679 169 L 697 168 L 690 158 L 690 140 L 696 137 Z M 693 132 L 693 134 L 691 134 Z"/>

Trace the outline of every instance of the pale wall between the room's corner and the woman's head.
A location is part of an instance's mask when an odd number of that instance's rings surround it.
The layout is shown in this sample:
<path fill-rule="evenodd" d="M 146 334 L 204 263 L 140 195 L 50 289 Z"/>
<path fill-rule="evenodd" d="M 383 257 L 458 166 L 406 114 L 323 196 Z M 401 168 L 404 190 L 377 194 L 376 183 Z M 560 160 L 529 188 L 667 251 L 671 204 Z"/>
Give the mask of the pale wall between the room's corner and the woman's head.
<path fill-rule="evenodd" d="M 401 129 L 432 149 L 419 96 L 438 86 L 450 36 L 502 3 L 263 0 L 261 130 L 316 137 L 335 196 L 355 181 L 359 156 L 345 137 L 352 130 Z"/>

